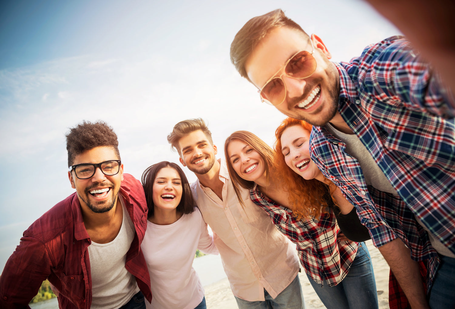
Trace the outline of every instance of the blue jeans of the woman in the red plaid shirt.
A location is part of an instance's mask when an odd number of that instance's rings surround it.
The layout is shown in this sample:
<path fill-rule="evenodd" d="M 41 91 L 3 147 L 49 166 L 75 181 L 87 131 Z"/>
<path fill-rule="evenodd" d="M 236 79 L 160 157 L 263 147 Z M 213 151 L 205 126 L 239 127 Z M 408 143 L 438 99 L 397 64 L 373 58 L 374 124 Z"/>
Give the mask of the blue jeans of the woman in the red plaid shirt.
<path fill-rule="evenodd" d="M 379 306 L 373 266 L 365 243 L 359 243 L 351 268 L 339 284 L 329 286 L 324 282 L 321 287 L 309 276 L 308 279 L 327 309 L 377 309 Z"/>

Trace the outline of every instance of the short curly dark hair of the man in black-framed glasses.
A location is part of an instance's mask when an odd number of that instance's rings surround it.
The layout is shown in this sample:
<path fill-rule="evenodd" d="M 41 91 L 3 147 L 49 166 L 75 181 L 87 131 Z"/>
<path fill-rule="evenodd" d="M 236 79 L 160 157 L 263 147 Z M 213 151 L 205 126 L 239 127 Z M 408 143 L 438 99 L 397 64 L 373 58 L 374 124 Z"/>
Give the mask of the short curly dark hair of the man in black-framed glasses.
<path fill-rule="evenodd" d="M 82 123 L 66 134 L 66 150 L 68 151 L 68 167 L 73 165 L 76 155 L 99 146 L 112 147 L 120 160 L 118 140 L 114 130 L 106 122 L 95 123 L 83 120 Z"/>

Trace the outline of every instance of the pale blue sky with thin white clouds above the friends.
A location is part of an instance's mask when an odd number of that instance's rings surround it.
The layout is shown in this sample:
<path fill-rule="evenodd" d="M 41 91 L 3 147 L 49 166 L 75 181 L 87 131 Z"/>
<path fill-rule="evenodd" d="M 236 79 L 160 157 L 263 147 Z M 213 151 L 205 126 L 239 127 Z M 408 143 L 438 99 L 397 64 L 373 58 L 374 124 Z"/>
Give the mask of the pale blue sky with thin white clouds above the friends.
<path fill-rule="evenodd" d="M 0 269 L 30 224 L 74 192 L 65 134 L 104 120 L 124 172 L 180 164 L 167 135 L 201 117 L 218 155 L 236 130 L 269 145 L 285 118 L 230 62 L 238 30 L 281 8 L 349 61 L 400 34 L 361 0 L 15 0 L 0 4 Z M 183 168 L 190 182 L 196 179 Z"/>

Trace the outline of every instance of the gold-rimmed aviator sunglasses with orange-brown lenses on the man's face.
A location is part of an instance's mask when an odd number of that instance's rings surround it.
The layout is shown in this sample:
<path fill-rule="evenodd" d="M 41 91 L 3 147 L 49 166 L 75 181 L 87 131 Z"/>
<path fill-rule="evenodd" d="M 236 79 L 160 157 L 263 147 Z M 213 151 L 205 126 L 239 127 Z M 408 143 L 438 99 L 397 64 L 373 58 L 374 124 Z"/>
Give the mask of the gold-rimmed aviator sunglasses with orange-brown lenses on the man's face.
<path fill-rule="evenodd" d="M 286 85 L 284 85 L 283 74 L 288 77 L 295 78 L 298 80 L 310 77 L 316 70 L 316 59 L 313 57 L 314 46 L 310 40 L 312 51 L 311 53 L 307 50 L 297 52 L 275 73 L 273 76 L 263 85 L 258 91 L 261 96 L 261 100 L 270 105 L 280 105 L 286 98 Z M 275 76 L 283 70 L 284 73 Z"/>

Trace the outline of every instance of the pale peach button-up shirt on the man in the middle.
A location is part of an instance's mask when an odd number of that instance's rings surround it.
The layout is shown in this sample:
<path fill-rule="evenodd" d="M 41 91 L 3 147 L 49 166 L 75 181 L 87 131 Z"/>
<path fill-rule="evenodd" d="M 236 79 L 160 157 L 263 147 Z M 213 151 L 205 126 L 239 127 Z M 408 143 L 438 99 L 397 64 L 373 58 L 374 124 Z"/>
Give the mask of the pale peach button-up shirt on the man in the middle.
<path fill-rule="evenodd" d="M 263 301 L 264 290 L 275 298 L 299 270 L 294 245 L 275 228 L 268 214 L 241 189 L 244 208 L 229 179 L 225 159 L 219 179 L 222 200 L 196 180 L 191 190 L 205 222 L 213 231 L 233 294 L 248 301 Z"/>

